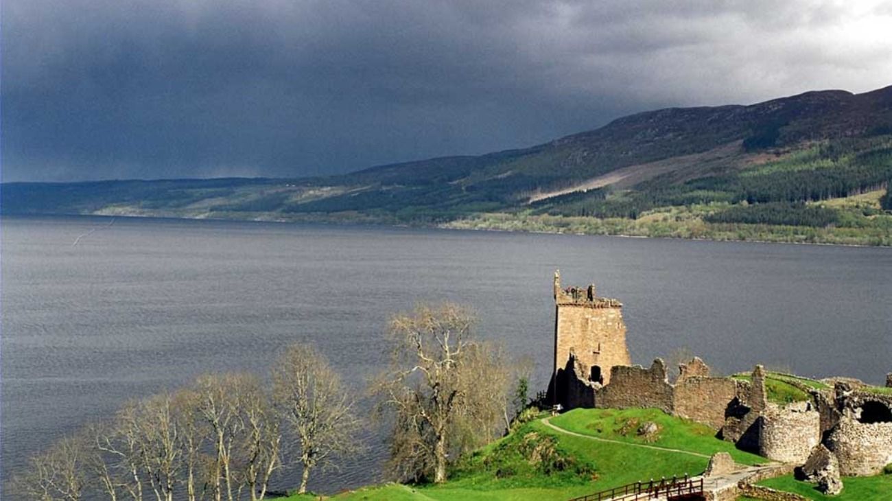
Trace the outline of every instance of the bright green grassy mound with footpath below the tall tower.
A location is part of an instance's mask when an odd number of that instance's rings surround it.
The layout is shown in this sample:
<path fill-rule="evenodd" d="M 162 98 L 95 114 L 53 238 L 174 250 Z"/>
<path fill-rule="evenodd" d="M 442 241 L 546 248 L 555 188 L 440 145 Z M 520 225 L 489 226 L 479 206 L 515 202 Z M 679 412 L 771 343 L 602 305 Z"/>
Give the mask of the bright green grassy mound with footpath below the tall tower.
<path fill-rule="evenodd" d="M 525 499 L 563 501 L 571 497 L 611 489 L 639 480 L 698 474 L 708 459 L 674 451 L 635 447 L 639 440 L 622 433 L 596 433 L 591 423 L 627 423 L 636 419 L 653 421 L 660 427 L 659 438 L 649 445 L 678 448 L 709 455 L 729 451 L 737 461 L 753 464 L 759 456 L 733 449 L 712 437 L 712 431 L 696 423 L 673 418 L 655 409 L 577 409 L 552 418 L 551 423 L 568 431 L 629 442 L 611 443 L 555 431 L 540 421 L 524 424 L 503 439 L 462 458 L 443 485 L 404 486 L 384 484 L 331 497 L 335 500 L 396 501 L 521 501 Z M 617 421 L 619 420 L 619 421 Z M 310 497 L 290 497 L 289 501 L 309 501 Z M 318 499 L 318 497 L 316 497 Z"/>

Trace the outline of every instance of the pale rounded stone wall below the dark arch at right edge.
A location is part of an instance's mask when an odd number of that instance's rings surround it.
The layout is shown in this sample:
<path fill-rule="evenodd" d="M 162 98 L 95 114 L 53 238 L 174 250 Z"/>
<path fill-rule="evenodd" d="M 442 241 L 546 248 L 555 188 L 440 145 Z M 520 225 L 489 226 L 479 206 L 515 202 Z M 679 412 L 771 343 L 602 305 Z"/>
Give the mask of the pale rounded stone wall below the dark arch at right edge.
<path fill-rule="evenodd" d="M 837 456 L 841 474 L 875 475 L 892 464 L 892 423 L 859 423 L 843 417 L 826 446 Z"/>

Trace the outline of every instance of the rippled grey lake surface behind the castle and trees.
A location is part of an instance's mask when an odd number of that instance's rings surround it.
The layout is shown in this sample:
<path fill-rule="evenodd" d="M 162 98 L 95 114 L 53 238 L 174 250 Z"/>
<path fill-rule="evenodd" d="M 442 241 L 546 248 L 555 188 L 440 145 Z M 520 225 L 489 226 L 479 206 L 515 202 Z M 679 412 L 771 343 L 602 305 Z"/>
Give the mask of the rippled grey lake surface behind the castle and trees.
<path fill-rule="evenodd" d="M 207 371 L 267 374 L 315 343 L 359 391 L 387 317 L 476 308 L 481 337 L 530 354 L 544 389 L 551 278 L 624 302 L 635 363 L 687 348 L 723 373 L 756 363 L 881 383 L 892 371 L 892 250 L 137 218 L 3 218 L 2 469 L 126 399 Z M 318 476 L 376 480 L 384 457 Z"/>

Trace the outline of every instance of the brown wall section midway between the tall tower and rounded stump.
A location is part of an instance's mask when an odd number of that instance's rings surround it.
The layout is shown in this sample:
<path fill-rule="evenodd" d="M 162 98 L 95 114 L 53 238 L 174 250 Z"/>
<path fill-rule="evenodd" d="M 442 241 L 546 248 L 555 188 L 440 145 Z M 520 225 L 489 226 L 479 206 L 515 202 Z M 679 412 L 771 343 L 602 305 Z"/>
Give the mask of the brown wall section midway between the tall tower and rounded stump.
<path fill-rule="evenodd" d="M 673 412 L 718 431 L 725 423 L 725 413 L 743 385 L 716 377 L 679 377 L 673 394 Z"/>

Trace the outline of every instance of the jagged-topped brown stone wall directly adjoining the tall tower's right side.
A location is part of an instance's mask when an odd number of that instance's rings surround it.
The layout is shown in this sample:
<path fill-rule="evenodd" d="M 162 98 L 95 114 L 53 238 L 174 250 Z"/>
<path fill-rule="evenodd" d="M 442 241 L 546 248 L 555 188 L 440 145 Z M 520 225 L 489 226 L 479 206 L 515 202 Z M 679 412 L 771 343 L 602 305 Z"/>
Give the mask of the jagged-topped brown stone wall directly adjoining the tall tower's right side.
<path fill-rule="evenodd" d="M 640 365 L 613 367 L 610 384 L 595 393 L 595 406 L 619 409 L 656 407 L 671 414 L 673 386 L 666 379 L 663 360 L 657 358 L 649 369 Z"/>

